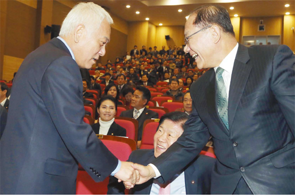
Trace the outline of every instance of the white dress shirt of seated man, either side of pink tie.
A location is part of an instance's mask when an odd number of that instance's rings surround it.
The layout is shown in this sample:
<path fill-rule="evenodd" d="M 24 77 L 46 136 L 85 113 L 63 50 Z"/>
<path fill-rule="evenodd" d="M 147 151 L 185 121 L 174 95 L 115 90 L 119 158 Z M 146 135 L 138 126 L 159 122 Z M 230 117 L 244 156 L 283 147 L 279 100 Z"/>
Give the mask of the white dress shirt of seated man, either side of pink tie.
<path fill-rule="evenodd" d="M 161 183 L 154 179 L 151 185 L 149 194 L 158 194 Z M 170 183 L 170 194 L 186 194 L 184 171 L 180 174 L 174 175 Z"/>

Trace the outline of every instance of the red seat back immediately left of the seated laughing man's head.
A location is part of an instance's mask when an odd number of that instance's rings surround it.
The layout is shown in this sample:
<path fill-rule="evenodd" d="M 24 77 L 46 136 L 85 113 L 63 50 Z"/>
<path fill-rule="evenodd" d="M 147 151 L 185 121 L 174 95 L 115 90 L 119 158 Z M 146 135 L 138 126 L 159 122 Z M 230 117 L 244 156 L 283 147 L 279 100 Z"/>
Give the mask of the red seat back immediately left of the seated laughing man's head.
<path fill-rule="evenodd" d="M 153 135 L 155 134 L 158 125 L 158 119 L 147 119 L 144 121 L 140 149 L 153 148 Z"/>

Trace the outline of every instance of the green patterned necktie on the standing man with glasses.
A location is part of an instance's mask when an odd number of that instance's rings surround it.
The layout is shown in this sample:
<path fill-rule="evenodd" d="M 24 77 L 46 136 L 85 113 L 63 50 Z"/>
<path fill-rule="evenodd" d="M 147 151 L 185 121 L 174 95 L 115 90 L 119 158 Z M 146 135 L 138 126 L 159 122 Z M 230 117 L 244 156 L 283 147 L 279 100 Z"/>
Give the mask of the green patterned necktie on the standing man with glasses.
<path fill-rule="evenodd" d="M 221 67 L 218 67 L 216 69 L 216 75 L 215 75 L 216 85 L 217 85 L 216 100 L 217 100 L 218 115 L 228 130 L 228 115 L 227 115 L 228 102 L 227 102 L 226 87 L 222 77 L 223 71 L 224 69 Z"/>

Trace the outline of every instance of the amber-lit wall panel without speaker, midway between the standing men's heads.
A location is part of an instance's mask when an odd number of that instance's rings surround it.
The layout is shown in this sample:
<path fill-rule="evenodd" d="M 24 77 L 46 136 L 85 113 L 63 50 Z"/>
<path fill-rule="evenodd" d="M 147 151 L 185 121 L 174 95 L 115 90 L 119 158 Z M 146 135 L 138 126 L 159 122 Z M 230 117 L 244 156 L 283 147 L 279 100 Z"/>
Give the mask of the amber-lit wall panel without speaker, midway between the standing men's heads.
<path fill-rule="evenodd" d="M 126 51 L 133 49 L 137 45 L 137 49 L 141 49 L 142 45 L 147 45 L 148 22 L 129 22 L 128 23 L 128 39 Z"/>

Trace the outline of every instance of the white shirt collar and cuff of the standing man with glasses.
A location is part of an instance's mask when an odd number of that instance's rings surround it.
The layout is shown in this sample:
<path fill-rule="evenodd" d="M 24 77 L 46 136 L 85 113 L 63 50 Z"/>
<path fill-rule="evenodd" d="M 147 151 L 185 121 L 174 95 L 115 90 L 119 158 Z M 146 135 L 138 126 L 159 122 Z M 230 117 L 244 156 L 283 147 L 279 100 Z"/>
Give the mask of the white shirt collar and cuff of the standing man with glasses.
<path fill-rule="evenodd" d="M 231 73 L 232 73 L 232 69 L 233 69 L 233 63 L 234 63 L 234 59 L 235 59 L 235 56 L 236 56 L 237 48 L 238 48 L 238 43 L 236 43 L 236 45 L 233 47 L 233 49 L 225 56 L 225 58 L 219 64 L 219 66 L 224 69 L 224 71 L 222 73 L 222 77 L 223 77 L 223 80 L 224 80 L 224 83 L 225 83 L 227 97 L 228 97 L 228 94 L 229 94 L 229 85 L 230 85 Z M 215 72 L 216 72 L 217 67 L 218 66 L 214 67 Z M 154 172 L 155 172 L 155 177 L 154 178 L 157 178 L 157 177 L 161 176 L 161 173 L 156 168 L 156 166 L 154 166 L 151 163 L 149 163 L 148 165 L 150 165 L 153 168 Z"/>

